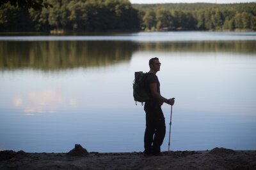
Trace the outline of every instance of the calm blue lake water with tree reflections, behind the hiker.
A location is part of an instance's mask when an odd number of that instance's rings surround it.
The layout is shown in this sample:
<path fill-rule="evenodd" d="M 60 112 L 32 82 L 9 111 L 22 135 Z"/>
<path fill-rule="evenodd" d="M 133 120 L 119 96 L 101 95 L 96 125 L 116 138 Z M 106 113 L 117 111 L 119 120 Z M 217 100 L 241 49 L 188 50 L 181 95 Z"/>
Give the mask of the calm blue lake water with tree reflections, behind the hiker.
<path fill-rule="evenodd" d="M 0 150 L 143 151 L 132 81 L 151 57 L 176 98 L 171 150 L 256 150 L 255 46 L 256 32 L 0 36 Z"/>

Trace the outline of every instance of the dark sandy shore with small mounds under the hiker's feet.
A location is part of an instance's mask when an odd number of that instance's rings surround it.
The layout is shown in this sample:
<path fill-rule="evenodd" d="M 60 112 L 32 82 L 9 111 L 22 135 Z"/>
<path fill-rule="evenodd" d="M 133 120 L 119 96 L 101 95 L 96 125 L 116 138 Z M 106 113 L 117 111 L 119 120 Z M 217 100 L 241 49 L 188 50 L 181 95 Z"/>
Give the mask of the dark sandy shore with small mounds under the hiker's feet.
<path fill-rule="evenodd" d="M 256 151 L 214 148 L 207 151 L 162 152 L 145 157 L 142 152 L 87 152 L 76 145 L 68 153 L 0 152 L 0 169 L 256 169 Z"/>

